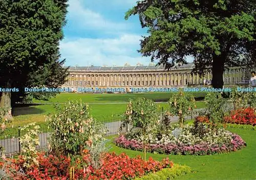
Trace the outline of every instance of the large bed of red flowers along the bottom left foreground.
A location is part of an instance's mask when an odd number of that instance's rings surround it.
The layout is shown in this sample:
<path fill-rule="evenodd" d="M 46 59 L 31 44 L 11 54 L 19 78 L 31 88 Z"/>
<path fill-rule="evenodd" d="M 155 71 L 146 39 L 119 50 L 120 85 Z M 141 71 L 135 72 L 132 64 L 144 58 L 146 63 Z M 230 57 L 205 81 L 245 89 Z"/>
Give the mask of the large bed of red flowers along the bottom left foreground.
<path fill-rule="evenodd" d="M 95 169 L 90 165 L 90 159 L 89 151 L 84 150 L 82 158 L 76 161 L 74 179 L 132 179 L 163 168 L 173 167 L 173 162 L 169 161 L 168 158 L 162 160 L 162 162 L 155 161 L 152 158 L 144 162 L 140 156 L 129 158 L 124 153 L 119 156 L 115 155 L 115 153 L 105 153 L 100 160 L 102 161 L 102 166 Z M 6 162 L 0 163 L 0 168 L 4 168 L 5 173 L 9 174 L 10 179 L 14 180 L 69 179 L 70 158 L 66 156 L 46 156 L 44 152 L 41 152 L 38 153 L 37 161 L 38 166 L 34 164 L 26 172 L 20 170 L 24 164 L 24 160 L 21 157 L 17 160 L 7 159 Z M 81 168 L 79 166 L 81 163 L 87 164 L 87 166 Z"/>

